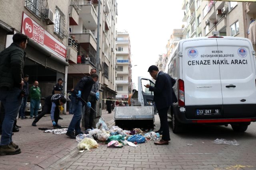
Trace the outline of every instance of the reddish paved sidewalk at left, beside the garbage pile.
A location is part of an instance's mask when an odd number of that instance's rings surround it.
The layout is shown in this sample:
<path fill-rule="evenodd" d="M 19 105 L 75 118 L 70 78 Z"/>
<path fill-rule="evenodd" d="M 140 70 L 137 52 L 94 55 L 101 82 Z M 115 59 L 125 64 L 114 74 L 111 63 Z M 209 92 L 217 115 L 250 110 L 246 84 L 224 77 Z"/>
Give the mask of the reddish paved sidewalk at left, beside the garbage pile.
<path fill-rule="evenodd" d="M 108 124 L 113 123 L 113 112 L 107 114 L 102 111 L 102 117 Z M 60 115 L 63 120 L 59 120 L 62 127 L 68 127 L 73 115 Z M 38 128 L 52 128 L 50 115 L 42 117 L 36 127 L 32 126 L 34 119 L 18 119 L 17 125 L 21 126 L 20 131 L 14 133 L 12 139 L 21 149 L 20 154 L 0 156 L 0 169 L 45 169 L 76 150 L 77 142 L 70 139 L 65 134 L 55 135 L 44 133 Z M 109 123 L 108 123 L 109 122 Z M 84 131 L 84 129 L 82 129 Z"/>

